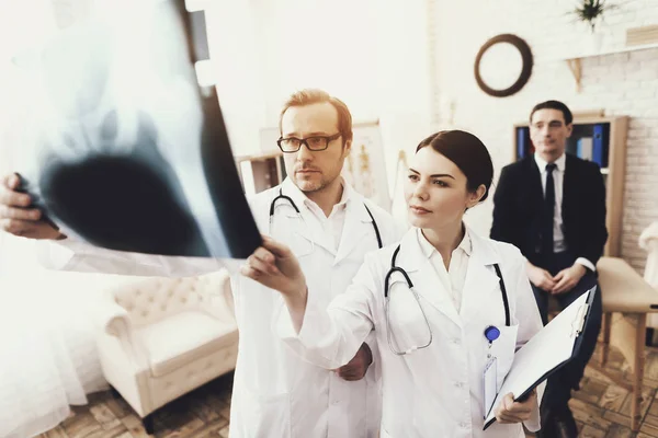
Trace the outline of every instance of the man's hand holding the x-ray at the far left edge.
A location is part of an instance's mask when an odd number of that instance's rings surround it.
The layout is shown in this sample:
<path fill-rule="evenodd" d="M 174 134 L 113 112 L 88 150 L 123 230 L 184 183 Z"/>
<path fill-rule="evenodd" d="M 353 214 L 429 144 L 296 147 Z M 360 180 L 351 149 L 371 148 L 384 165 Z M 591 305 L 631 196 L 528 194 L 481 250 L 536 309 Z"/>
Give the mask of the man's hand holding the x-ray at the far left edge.
<path fill-rule="evenodd" d="M 0 229 L 29 239 L 58 240 L 66 235 L 42 219 L 38 208 L 30 208 L 30 195 L 20 193 L 21 180 L 15 173 L 0 180 Z"/>

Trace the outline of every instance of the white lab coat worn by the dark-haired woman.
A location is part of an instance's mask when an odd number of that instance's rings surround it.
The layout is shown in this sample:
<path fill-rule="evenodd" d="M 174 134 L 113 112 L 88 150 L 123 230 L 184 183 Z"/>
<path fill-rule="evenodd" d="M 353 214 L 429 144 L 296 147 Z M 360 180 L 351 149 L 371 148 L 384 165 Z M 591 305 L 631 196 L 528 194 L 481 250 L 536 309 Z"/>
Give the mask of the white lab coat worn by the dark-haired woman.
<path fill-rule="evenodd" d="M 520 424 L 495 423 L 486 431 L 483 407 L 483 371 L 488 342 L 485 328 L 496 325 L 500 337 L 491 353 L 498 361 L 498 382 L 507 374 L 514 351 L 542 328 L 534 296 L 518 249 L 468 231 L 473 251 L 468 261 L 458 314 L 447 291 L 423 255 L 411 229 L 401 240 L 396 265 L 408 273 L 432 333 L 429 347 L 406 356 L 389 348 L 388 331 L 398 346 L 423 345 L 428 326 L 404 277 L 395 274 L 390 287 L 390 325 L 386 323 L 384 278 L 397 244 L 368 254 L 347 293 L 326 309 L 313 285 L 299 334 L 290 314 L 277 322 L 280 336 L 305 359 L 326 368 L 349 360 L 374 328 L 383 370 L 382 437 L 523 437 Z M 504 307 L 494 264 L 498 263 L 509 297 L 511 325 L 504 326 Z M 401 293 L 400 293 L 401 292 Z M 395 309 L 394 309 L 395 307 Z M 395 345 L 395 344 L 394 344 Z M 543 389 L 540 391 L 540 400 Z M 540 427 L 538 406 L 530 430 Z"/>

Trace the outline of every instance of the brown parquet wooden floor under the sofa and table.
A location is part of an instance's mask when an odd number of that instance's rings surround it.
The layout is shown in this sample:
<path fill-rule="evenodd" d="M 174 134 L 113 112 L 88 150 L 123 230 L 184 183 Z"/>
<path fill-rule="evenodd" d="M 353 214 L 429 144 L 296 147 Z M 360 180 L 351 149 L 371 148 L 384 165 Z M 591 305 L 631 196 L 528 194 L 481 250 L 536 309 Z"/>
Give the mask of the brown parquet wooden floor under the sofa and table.
<path fill-rule="evenodd" d="M 658 437 L 658 348 L 647 348 L 643 423 L 633 434 L 629 425 L 628 391 L 588 368 L 582 389 L 570 402 L 580 437 L 621 438 Z M 599 351 L 592 360 L 598 359 Z M 627 378 L 627 365 L 611 350 L 606 369 Z M 158 438 L 228 437 L 228 418 L 232 377 L 225 376 L 172 402 L 156 413 Z M 532 435 L 529 435 L 532 436 Z M 90 395 L 90 404 L 73 407 L 71 416 L 39 438 L 144 438 L 148 437 L 138 416 L 110 392 Z"/>

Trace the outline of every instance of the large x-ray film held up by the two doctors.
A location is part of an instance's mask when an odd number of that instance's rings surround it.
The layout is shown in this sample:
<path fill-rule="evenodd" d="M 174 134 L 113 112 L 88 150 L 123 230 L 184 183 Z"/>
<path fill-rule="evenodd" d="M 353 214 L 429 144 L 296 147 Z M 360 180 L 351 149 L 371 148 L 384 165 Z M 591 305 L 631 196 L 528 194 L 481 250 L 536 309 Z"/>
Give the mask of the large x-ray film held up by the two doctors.
<path fill-rule="evenodd" d="M 98 2 L 39 51 L 20 172 L 66 233 L 164 255 L 260 244 L 215 88 L 195 76 L 204 26 L 183 0 Z"/>

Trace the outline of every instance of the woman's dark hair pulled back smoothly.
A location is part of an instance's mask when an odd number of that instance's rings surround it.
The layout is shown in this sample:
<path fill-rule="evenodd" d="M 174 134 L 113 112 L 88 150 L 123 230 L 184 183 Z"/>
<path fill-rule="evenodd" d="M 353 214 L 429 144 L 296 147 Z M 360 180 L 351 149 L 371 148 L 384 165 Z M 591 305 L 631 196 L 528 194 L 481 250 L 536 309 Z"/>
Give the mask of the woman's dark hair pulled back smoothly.
<path fill-rule="evenodd" d="M 487 147 L 479 138 L 464 130 L 441 130 L 422 140 L 416 152 L 431 146 L 436 152 L 455 163 L 466 175 L 466 188 L 487 187 L 480 201 L 487 199 L 494 181 L 494 162 Z"/>

